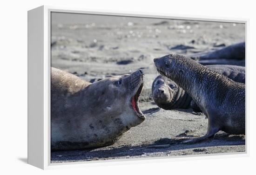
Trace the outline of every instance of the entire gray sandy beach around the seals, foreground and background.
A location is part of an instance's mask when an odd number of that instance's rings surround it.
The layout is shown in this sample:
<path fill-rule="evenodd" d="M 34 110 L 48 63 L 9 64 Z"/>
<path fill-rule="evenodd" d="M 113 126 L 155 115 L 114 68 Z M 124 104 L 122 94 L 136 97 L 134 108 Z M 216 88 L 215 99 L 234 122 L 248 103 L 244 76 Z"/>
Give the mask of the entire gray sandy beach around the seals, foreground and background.
<path fill-rule="evenodd" d="M 52 152 L 52 162 L 245 151 L 245 136 L 224 132 L 201 143 L 182 144 L 182 139 L 204 135 L 207 119 L 190 109 L 154 112 L 157 106 L 151 96 L 158 75 L 153 58 L 170 52 L 189 56 L 242 42 L 243 24 L 74 14 L 66 14 L 64 19 L 61 13 L 52 16 L 52 66 L 87 81 L 142 69 L 145 86 L 140 106 L 147 118 L 111 146 Z"/>

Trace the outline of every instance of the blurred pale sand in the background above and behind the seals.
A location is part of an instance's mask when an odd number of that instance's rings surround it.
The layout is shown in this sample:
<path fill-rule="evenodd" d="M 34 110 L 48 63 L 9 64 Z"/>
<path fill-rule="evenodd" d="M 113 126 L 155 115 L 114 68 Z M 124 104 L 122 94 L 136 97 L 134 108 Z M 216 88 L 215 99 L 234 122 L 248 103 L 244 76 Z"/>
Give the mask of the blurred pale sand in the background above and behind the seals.
<path fill-rule="evenodd" d="M 195 20 L 52 13 L 51 63 L 94 82 L 145 72 L 156 77 L 153 59 L 169 53 L 194 55 L 245 40 L 245 25 Z"/>

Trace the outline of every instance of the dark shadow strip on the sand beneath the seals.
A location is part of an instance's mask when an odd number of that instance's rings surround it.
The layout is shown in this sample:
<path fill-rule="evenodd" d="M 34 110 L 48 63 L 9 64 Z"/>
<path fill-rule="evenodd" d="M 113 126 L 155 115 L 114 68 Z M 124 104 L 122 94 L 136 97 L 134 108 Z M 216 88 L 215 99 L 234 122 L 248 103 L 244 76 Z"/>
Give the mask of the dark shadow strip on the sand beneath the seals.
<path fill-rule="evenodd" d="M 104 158 L 115 159 L 124 156 L 142 156 L 150 153 L 165 153 L 182 149 L 193 149 L 194 152 L 203 152 L 207 151 L 206 147 L 245 144 L 244 136 L 228 135 L 226 133 L 216 134 L 214 139 L 208 139 L 202 142 L 182 143 L 187 139 L 189 138 L 161 138 L 152 143 L 145 143 L 138 146 L 124 145 L 117 148 L 115 146 L 109 146 L 100 149 L 55 151 L 51 153 L 51 161 L 91 161 Z"/>

